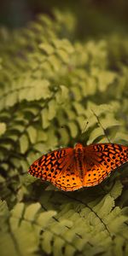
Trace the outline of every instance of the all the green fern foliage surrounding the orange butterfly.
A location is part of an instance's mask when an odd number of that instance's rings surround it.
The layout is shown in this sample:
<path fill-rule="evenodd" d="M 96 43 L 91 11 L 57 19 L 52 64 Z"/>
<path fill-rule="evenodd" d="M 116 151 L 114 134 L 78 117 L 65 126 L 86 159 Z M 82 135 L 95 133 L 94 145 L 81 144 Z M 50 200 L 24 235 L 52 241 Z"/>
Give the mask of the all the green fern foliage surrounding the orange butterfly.
<path fill-rule="evenodd" d="M 2 256 L 128 254 L 127 166 L 67 193 L 27 174 L 55 148 L 127 144 L 128 38 L 81 43 L 75 24 L 55 11 L 54 20 L 40 15 L 26 28 L 0 30 Z"/>

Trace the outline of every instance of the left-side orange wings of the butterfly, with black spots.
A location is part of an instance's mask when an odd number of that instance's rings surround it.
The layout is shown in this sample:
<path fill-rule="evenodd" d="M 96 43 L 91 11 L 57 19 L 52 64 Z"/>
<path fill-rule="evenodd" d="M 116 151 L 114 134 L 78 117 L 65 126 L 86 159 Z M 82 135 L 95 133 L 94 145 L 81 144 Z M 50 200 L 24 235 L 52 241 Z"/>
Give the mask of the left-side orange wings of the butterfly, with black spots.
<path fill-rule="evenodd" d="M 74 166 L 73 148 L 61 148 L 44 154 L 34 161 L 28 172 L 65 191 L 73 191 L 82 187 L 79 173 Z"/>

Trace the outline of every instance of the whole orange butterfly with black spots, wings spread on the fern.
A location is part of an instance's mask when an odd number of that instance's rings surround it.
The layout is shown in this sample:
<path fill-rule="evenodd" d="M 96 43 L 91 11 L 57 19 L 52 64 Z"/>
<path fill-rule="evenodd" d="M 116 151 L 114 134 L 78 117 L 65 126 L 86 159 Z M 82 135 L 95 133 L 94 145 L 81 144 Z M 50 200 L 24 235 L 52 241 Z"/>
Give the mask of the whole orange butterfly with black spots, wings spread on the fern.
<path fill-rule="evenodd" d="M 28 172 L 61 190 L 73 191 L 96 186 L 127 161 L 126 146 L 97 143 L 84 147 L 77 143 L 74 148 L 60 148 L 42 155 Z"/>

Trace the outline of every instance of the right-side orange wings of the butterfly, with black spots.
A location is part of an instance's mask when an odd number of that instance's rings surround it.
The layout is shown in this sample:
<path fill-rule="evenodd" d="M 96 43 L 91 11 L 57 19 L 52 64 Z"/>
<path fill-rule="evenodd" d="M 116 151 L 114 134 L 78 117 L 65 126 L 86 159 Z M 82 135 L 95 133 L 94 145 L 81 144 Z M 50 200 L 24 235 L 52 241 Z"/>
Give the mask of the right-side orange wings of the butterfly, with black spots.
<path fill-rule="evenodd" d="M 128 147 L 114 143 L 99 143 L 84 147 L 83 186 L 101 183 L 108 174 L 128 161 Z"/>

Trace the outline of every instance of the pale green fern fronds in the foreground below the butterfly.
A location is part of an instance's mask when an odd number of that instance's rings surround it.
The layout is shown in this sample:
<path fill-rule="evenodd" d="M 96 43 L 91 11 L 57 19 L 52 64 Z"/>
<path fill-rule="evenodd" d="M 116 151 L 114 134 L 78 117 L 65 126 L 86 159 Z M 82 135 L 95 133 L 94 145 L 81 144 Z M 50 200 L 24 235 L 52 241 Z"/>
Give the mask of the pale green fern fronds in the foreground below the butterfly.
<path fill-rule="evenodd" d="M 1 203 L 2 224 L 6 222 L 7 225 L 6 232 L 5 223 L 2 226 L 3 252 L 5 248 L 8 252 L 8 247 L 12 247 L 13 255 L 34 255 L 36 252 L 53 252 L 54 255 L 86 255 L 88 252 L 93 255 L 105 253 L 108 248 L 109 252 L 116 250 L 115 237 L 121 238 L 122 244 L 127 241 L 126 212 L 115 207 L 114 202 L 121 190 L 117 182 L 104 196 L 94 197 L 92 189 L 88 194 L 83 191 L 72 195 L 44 191 L 38 203 L 18 203 L 11 212 L 4 202 Z"/>

